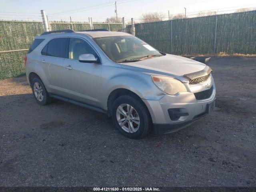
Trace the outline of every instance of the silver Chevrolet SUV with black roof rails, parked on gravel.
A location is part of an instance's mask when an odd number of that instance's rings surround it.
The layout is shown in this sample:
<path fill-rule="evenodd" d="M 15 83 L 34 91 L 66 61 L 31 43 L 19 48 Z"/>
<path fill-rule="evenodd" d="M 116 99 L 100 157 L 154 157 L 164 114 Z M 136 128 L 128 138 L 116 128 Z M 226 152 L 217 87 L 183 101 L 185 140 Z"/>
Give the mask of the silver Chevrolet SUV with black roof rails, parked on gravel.
<path fill-rule="evenodd" d="M 210 67 L 123 32 L 44 32 L 24 60 L 38 104 L 57 98 L 106 113 L 130 138 L 177 131 L 216 104 Z"/>

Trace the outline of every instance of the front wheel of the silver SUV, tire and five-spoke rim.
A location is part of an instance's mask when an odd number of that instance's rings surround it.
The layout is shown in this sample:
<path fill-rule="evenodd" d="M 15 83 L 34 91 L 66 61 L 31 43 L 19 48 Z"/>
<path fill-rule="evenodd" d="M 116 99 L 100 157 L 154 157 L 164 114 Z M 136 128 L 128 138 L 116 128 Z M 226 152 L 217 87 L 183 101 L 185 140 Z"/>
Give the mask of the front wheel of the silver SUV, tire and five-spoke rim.
<path fill-rule="evenodd" d="M 112 106 L 111 114 L 118 130 L 129 138 L 142 138 L 148 134 L 152 127 L 148 108 L 135 96 L 124 95 L 118 97 Z"/>

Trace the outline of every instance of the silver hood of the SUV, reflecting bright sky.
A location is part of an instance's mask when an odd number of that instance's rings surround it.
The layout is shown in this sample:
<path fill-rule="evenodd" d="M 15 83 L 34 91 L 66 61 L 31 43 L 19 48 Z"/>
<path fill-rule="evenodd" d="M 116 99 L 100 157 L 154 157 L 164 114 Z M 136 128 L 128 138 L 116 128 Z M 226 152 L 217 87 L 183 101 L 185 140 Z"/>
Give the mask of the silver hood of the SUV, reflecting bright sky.
<path fill-rule="evenodd" d="M 136 70 L 136 68 L 139 68 L 138 70 L 142 72 L 172 75 L 176 77 L 198 72 L 206 67 L 206 65 L 201 62 L 170 54 L 138 62 L 122 63 L 121 66 L 127 69 Z"/>

